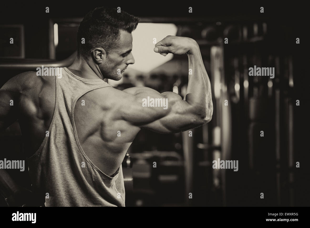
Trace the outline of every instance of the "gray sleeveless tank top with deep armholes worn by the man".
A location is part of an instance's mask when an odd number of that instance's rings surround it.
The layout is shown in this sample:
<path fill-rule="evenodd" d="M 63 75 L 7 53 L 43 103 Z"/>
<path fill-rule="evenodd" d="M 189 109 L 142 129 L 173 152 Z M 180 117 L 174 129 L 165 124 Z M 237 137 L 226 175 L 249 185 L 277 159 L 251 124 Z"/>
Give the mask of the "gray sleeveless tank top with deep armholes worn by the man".
<path fill-rule="evenodd" d="M 51 76 L 53 77 L 53 76 Z M 42 206 L 123 206 L 122 165 L 113 176 L 103 173 L 84 153 L 74 124 L 77 100 L 87 92 L 111 86 L 101 79 L 84 79 L 62 68 L 56 78 L 56 104 L 40 148 L 27 158 L 32 191 Z"/>

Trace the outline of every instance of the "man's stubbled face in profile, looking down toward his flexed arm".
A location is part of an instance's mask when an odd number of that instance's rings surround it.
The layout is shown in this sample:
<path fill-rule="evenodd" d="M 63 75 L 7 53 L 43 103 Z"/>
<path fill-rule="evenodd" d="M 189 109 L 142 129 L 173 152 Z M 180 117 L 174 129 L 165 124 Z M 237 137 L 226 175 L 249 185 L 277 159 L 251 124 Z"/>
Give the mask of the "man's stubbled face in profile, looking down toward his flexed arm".
<path fill-rule="evenodd" d="M 132 34 L 127 31 L 120 30 L 120 39 L 116 47 L 108 52 L 106 58 L 100 64 L 100 71 L 104 78 L 119 81 L 122 73 L 129 64 L 134 64 L 135 59 L 131 53 L 132 50 Z"/>

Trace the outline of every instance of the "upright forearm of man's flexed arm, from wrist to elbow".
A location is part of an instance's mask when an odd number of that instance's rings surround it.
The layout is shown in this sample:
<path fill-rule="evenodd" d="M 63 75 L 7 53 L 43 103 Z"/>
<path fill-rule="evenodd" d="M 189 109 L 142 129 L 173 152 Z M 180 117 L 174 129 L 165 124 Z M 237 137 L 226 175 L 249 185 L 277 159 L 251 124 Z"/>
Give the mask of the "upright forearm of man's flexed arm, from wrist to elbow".
<path fill-rule="evenodd" d="M 194 114 L 208 121 L 213 114 L 211 84 L 197 43 L 188 52 L 188 67 L 188 87 L 184 100 L 193 107 Z"/>

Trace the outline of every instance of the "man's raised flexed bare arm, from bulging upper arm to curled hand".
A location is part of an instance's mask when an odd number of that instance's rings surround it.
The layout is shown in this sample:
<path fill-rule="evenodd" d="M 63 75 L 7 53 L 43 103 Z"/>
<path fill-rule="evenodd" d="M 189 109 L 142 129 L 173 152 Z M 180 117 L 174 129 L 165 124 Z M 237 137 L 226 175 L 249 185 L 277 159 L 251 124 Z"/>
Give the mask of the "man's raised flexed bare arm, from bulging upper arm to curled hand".
<path fill-rule="evenodd" d="M 168 36 L 155 45 L 155 52 L 166 55 L 188 55 L 188 88 L 184 100 L 173 92 L 158 93 L 147 87 L 134 87 L 123 90 L 122 118 L 140 128 L 159 133 L 177 133 L 208 123 L 213 114 L 211 86 L 204 68 L 197 42 L 188 37 Z M 151 107 L 151 101 L 157 106 L 161 99 L 166 107 Z M 157 99 L 157 100 L 156 100 Z M 146 101 L 146 103 L 145 103 Z M 143 107 L 147 104 L 147 107 Z M 162 104 L 165 104 L 162 102 Z"/>

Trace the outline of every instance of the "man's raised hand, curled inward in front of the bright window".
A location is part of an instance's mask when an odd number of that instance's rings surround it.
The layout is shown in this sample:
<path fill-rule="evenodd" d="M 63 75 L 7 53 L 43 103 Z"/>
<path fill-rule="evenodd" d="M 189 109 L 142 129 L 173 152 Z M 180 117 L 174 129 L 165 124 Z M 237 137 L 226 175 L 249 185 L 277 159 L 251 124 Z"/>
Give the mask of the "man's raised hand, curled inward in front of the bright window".
<path fill-rule="evenodd" d="M 191 54 L 191 51 L 199 46 L 195 40 L 189 37 L 166 36 L 155 44 L 154 51 L 166 56 L 168 53 L 175 55 Z"/>

